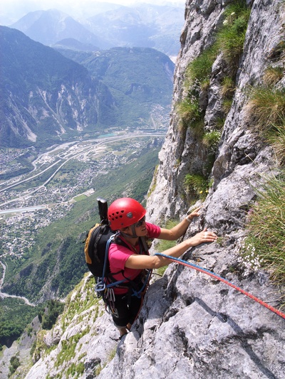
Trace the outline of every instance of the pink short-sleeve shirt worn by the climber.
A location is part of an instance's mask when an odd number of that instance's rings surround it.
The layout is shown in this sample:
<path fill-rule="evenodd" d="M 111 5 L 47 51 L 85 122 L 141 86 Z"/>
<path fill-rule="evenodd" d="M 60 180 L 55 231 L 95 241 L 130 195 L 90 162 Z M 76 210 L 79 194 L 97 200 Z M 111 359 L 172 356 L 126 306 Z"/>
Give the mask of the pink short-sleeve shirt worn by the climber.
<path fill-rule="evenodd" d="M 161 229 L 159 226 L 145 223 L 147 228 L 147 237 L 149 238 L 157 238 L 160 235 Z M 136 245 L 135 250 L 138 254 L 140 254 L 140 246 Z M 128 277 L 129 279 L 133 280 L 140 272 L 142 272 L 142 269 L 130 269 L 128 267 L 125 267 L 125 262 L 128 260 L 128 257 L 130 255 L 133 255 L 135 253 L 134 250 L 128 249 L 128 247 L 116 245 L 115 243 L 111 243 L 109 247 L 109 262 L 110 262 L 110 272 L 119 272 L 121 270 L 124 271 L 124 275 L 122 273 L 115 274 L 113 277 L 116 280 L 122 280 L 125 277 Z M 123 285 L 123 284 L 122 284 Z M 128 289 L 120 289 L 114 287 L 115 294 L 125 294 L 128 292 Z"/>

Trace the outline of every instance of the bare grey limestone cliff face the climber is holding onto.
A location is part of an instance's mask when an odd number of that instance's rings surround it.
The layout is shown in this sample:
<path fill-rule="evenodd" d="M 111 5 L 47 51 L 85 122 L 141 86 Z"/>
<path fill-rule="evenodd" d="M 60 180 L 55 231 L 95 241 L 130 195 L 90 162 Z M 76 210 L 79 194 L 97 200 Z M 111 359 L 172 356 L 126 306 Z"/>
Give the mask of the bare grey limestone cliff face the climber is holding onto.
<path fill-rule="evenodd" d="M 179 115 L 174 105 L 184 96 L 185 68 L 212 43 L 217 26 L 222 23 L 224 7 L 231 2 L 186 2 L 172 119 L 152 183 L 155 189 L 147 201 L 148 218 L 152 222 L 185 217 L 189 208 L 183 194 L 183 181 L 187 172 L 199 166 L 203 149 L 190 131 L 183 136 L 179 132 Z M 284 3 L 256 0 L 249 5 L 252 11 L 244 53 L 239 60 L 236 91 L 212 168 L 213 185 L 199 220 L 185 236 L 207 227 L 221 238 L 219 243 L 199 245 L 184 258 L 199 262 L 200 266 L 277 306 L 281 296 L 278 289 L 269 282 L 266 272 L 244 271 L 239 264 L 239 249 L 246 235 L 246 209 L 255 196 L 252 185 L 259 186 L 260 175 L 276 170 L 273 151 L 259 143 L 245 117 L 245 88 L 261 83 L 264 70 L 272 63 L 272 52 L 284 37 Z M 204 127 L 209 129 L 215 117 L 219 117 L 219 77 L 225 70 L 223 62 L 219 55 L 212 67 L 204 100 Z M 110 326 L 110 319 L 103 317 L 105 326 Z M 83 331 L 86 326 L 81 319 L 78 318 L 77 324 L 73 321 L 73 328 Z M 95 322 L 102 322 L 99 320 Z M 105 352 L 107 347 L 116 346 L 114 341 L 110 346 L 110 337 L 115 336 L 115 331 L 111 326 L 103 329 L 101 325 L 98 336 L 78 339 L 72 359 L 58 368 L 51 367 L 51 355 L 59 356 L 64 341 L 71 336 L 71 329 L 66 329 L 56 350 L 42 356 L 26 378 L 55 377 L 59 372 L 62 378 L 69 378 L 68 367 L 81 362 L 84 369 L 78 378 L 123 379 L 145 375 L 155 379 L 281 379 L 285 372 L 284 326 L 284 319 L 232 287 L 194 269 L 172 264 L 165 275 L 150 286 L 138 320 L 128 336 L 118 343 L 112 359 L 110 353 Z M 103 370 L 98 370 L 103 365 Z"/>

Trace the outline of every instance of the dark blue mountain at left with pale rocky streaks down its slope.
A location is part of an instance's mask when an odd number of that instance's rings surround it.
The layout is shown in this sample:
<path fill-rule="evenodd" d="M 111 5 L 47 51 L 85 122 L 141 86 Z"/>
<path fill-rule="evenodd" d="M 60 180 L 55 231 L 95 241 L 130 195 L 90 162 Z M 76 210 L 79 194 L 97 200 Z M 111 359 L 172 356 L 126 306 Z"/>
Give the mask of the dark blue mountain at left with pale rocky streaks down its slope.
<path fill-rule="evenodd" d="M 98 123 L 103 84 L 95 82 L 86 68 L 15 29 L 1 26 L 0 36 L 1 146 L 58 139 Z M 103 101 L 106 104 L 109 97 L 112 104 L 110 92 L 104 91 Z"/>

